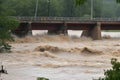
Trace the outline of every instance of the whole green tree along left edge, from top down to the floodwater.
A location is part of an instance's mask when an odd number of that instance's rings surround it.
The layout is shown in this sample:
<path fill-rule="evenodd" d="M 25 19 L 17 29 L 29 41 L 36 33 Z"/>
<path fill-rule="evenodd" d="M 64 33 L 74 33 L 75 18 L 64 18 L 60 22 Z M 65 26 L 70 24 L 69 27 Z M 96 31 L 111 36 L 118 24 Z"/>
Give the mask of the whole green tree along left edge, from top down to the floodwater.
<path fill-rule="evenodd" d="M 4 4 L 6 0 L 0 0 L 0 53 L 10 51 L 11 46 L 7 41 L 12 41 L 11 30 L 18 26 L 15 18 L 9 17 L 9 11 Z"/>

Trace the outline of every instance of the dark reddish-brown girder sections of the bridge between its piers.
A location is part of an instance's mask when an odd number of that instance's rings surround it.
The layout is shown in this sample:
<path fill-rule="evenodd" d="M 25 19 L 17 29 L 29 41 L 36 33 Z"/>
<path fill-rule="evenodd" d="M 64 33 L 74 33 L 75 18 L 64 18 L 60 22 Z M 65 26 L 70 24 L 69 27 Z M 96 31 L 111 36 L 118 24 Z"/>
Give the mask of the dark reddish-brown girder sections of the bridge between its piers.
<path fill-rule="evenodd" d="M 67 30 L 90 30 L 96 26 L 96 22 L 90 23 L 66 23 Z M 120 30 L 120 23 L 100 23 L 101 30 Z M 63 26 L 63 23 L 31 23 L 32 30 L 56 30 Z"/>

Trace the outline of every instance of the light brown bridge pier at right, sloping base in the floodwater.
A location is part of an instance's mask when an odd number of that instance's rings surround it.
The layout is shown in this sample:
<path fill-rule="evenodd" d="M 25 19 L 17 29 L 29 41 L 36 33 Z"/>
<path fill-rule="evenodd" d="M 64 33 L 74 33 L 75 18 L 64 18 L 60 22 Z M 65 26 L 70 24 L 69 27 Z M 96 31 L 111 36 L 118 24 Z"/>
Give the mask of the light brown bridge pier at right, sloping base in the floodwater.
<path fill-rule="evenodd" d="M 93 28 L 83 31 L 81 36 L 91 37 L 93 40 L 101 40 L 101 23 L 97 22 Z"/>

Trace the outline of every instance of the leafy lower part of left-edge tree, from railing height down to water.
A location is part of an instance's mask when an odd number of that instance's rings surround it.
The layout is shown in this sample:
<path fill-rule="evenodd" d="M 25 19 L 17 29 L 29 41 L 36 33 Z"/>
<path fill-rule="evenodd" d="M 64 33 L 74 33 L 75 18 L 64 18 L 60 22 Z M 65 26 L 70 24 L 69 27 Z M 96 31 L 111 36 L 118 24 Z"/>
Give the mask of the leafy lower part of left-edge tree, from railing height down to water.
<path fill-rule="evenodd" d="M 9 52 L 11 46 L 7 41 L 13 41 L 11 30 L 18 26 L 18 21 L 12 17 L 0 17 L 0 53 Z"/>

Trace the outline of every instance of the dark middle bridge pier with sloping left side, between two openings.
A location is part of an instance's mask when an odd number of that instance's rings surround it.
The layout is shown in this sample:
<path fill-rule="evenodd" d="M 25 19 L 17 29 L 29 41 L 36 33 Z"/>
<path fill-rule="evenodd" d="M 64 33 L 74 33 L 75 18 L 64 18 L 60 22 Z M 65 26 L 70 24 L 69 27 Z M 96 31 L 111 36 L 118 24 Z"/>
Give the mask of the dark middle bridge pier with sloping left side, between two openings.
<path fill-rule="evenodd" d="M 53 34 L 64 34 L 64 35 L 68 35 L 67 32 L 67 24 L 64 23 L 62 26 L 59 26 L 57 29 L 55 30 L 48 30 L 48 34 L 49 35 L 53 35 Z"/>

